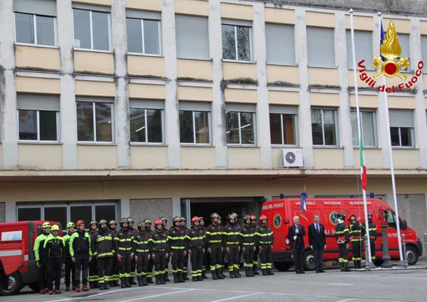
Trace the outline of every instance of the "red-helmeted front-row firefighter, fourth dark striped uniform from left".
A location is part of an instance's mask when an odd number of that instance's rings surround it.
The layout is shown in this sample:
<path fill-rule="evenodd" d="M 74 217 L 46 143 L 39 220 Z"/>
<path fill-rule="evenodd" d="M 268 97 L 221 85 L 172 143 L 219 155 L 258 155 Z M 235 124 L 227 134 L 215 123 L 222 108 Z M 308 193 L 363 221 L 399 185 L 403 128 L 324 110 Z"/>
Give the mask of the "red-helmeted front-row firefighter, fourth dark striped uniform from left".
<path fill-rule="evenodd" d="M 169 256 L 169 242 L 167 233 L 162 230 L 162 219 L 154 221 L 154 233 L 149 240 L 151 257 L 154 263 L 155 284 L 165 283 L 165 269 L 167 266 L 166 259 Z"/>

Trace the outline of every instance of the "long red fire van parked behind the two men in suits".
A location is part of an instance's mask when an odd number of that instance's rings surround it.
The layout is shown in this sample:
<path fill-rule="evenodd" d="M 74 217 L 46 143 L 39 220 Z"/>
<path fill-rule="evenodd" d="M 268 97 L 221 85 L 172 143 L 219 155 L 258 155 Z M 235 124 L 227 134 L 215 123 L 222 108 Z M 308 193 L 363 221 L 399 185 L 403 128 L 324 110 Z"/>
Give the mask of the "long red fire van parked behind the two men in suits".
<path fill-rule="evenodd" d="M 358 198 L 307 198 L 307 210 L 301 211 L 300 199 L 270 200 L 262 204 L 261 214 L 268 218 L 269 227 L 274 235 L 273 261 L 278 270 L 288 270 L 292 266 L 292 250 L 287 239 L 288 227 L 293 224 L 295 215 L 300 217 L 300 224 L 308 231 L 309 224 L 313 223 L 313 215 L 318 214 L 321 224 L 325 226 L 326 249 L 323 256 L 324 261 L 338 259 L 338 246 L 335 239 L 335 226 L 337 224 L 337 213 L 344 212 L 346 217 L 355 214 L 365 221 L 363 214 L 363 200 Z M 373 214 L 373 222 L 377 226 L 376 242 L 376 264 L 381 263 L 382 237 L 381 224 L 387 225 L 388 251 L 391 259 L 399 259 L 398 233 L 396 229 L 396 217 L 394 210 L 383 200 L 377 198 L 367 199 L 367 210 Z M 407 261 L 414 265 L 421 256 L 423 250 L 421 241 L 416 231 L 407 226 L 407 221 L 399 218 L 400 233 L 405 234 L 407 244 Z M 348 224 L 348 221 L 346 221 Z M 307 233 L 308 234 L 308 233 Z M 308 244 L 308 235 L 304 238 L 304 269 L 314 269 L 313 251 Z M 351 252 L 349 257 L 351 259 Z"/>

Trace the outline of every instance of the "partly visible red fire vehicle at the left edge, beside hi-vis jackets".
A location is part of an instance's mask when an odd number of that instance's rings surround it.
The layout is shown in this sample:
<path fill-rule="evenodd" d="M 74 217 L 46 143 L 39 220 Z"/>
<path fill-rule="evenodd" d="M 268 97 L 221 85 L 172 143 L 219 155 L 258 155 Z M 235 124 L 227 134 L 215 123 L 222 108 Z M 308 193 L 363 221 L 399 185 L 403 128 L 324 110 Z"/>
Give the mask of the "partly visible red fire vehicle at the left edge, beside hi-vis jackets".
<path fill-rule="evenodd" d="M 0 295 L 13 295 L 28 285 L 38 291 L 34 240 L 45 221 L 16 221 L 0 224 Z M 59 222 L 49 221 L 50 224 Z M 59 233 L 62 235 L 62 232 Z"/>

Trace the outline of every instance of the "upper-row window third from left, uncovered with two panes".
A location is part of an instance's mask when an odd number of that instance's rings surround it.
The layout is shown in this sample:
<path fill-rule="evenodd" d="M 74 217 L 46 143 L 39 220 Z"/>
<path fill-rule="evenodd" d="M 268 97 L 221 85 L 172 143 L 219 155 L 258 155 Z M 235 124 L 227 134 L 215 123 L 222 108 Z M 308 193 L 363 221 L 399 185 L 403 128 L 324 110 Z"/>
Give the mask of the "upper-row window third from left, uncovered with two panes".
<path fill-rule="evenodd" d="M 160 55 L 160 13 L 126 11 L 127 52 Z"/>

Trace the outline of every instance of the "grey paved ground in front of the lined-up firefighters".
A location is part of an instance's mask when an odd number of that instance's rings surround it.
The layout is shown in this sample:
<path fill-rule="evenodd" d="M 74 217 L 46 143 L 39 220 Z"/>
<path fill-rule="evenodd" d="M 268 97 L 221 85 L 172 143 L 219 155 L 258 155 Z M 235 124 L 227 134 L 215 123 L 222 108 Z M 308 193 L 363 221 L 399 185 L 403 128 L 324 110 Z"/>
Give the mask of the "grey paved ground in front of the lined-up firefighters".
<path fill-rule="evenodd" d="M 329 269 L 324 274 L 293 271 L 274 276 L 225 280 L 187 281 L 149 287 L 61 295 L 34 294 L 27 287 L 17 296 L 1 297 L 2 302 L 131 302 L 131 301 L 297 301 L 297 302 L 419 302 L 427 301 L 427 269 L 353 271 Z"/>

